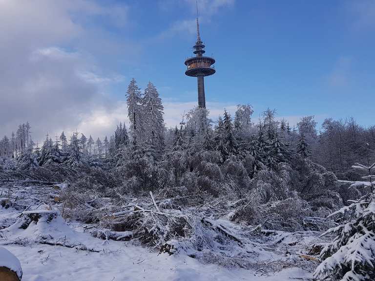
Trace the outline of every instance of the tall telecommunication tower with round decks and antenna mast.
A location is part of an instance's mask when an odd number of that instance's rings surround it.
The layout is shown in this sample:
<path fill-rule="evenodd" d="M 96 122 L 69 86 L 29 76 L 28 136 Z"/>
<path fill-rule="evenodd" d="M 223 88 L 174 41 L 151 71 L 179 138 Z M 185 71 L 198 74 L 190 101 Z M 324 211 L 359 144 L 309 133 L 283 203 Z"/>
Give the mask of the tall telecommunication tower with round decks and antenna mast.
<path fill-rule="evenodd" d="M 198 4 L 197 4 L 197 41 L 195 42 L 194 54 L 195 57 L 188 58 L 185 60 L 185 65 L 187 66 L 187 70 L 185 74 L 187 76 L 196 77 L 198 80 L 198 106 L 200 108 L 206 108 L 206 97 L 205 97 L 205 76 L 209 76 L 214 74 L 215 67 L 214 63 L 215 60 L 211 57 L 203 56 L 206 52 L 204 50 L 205 45 L 201 40 L 201 36 L 199 34 L 199 21 L 198 21 Z"/>

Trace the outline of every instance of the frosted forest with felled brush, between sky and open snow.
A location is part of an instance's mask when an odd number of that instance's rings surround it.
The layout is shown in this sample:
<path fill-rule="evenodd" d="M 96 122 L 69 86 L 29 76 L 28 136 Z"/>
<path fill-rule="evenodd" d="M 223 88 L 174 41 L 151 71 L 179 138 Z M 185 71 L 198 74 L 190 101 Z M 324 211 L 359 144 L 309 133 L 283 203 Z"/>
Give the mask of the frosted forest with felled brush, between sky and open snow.
<path fill-rule="evenodd" d="M 254 118 L 249 103 L 217 120 L 193 108 L 168 128 L 151 82 L 142 92 L 131 80 L 126 99 L 129 125 L 103 141 L 76 131 L 37 144 L 28 122 L 4 136 L 2 207 L 20 204 L 14 186 L 32 186 L 38 204 L 103 240 L 261 272 L 303 267 L 314 280 L 375 280 L 375 125 L 329 118 L 318 128 L 306 116 L 291 126 L 276 109 Z M 274 242 L 296 235 L 310 240 Z M 283 258 L 262 260 L 265 247 Z"/>

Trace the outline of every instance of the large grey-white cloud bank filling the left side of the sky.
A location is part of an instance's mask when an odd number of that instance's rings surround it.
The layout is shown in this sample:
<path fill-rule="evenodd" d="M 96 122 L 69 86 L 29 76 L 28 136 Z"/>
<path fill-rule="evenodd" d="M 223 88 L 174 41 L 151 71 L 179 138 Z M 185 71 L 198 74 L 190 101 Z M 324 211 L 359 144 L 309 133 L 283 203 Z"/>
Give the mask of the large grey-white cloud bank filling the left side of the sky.
<path fill-rule="evenodd" d="M 0 0 L 0 135 L 29 121 L 40 141 L 47 131 L 73 130 L 96 112 L 110 110 L 104 86 L 124 77 L 104 72 L 95 52 L 125 48 L 121 40 L 103 40 L 104 31 L 90 21 L 102 17 L 124 26 L 127 13 L 126 5 L 86 0 Z M 83 52 L 79 47 L 86 44 Z"/>

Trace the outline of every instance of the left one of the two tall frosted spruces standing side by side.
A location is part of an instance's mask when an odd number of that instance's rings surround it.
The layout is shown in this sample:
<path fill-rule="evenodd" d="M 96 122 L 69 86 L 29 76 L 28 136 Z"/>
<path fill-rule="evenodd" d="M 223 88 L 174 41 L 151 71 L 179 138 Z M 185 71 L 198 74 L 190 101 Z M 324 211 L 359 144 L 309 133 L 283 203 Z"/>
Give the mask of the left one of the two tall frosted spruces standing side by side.
<path fill-rule="evenodd" d="M 130 133 L 133 143 L 142 139 L 142 108 L 141 108 L 141 90 L 137 86 L 136 80 L 130 81 L 126 91 L 127 114 L 130 120 Z M 138 140 L 140 139 L 140 140 Z"/>

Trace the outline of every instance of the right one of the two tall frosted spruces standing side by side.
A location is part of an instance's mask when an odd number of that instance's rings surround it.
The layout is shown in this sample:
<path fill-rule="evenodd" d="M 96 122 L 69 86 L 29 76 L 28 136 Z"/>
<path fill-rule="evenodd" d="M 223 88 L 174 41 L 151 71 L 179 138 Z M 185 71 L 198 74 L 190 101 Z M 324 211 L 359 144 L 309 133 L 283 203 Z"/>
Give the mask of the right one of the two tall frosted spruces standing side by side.
<path fill-rule="evenodd" d="M 161 151 L 164 148 L 164 107 L 158 90 L 148 82 L 142 99 L 143 127 L 146 143 Z"/>

